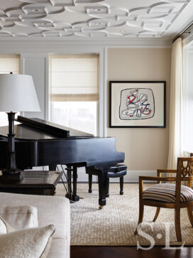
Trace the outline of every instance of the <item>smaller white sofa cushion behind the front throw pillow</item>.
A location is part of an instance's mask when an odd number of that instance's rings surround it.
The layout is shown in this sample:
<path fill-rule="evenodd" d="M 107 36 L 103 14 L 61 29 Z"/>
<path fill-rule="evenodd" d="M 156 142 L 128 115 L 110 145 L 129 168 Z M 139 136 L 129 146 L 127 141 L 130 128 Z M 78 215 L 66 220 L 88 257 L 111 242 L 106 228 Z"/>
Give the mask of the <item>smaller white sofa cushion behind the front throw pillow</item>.
<path fill-rule="evenodd" d="M 38 227 L 38 210 L 30 205 L 0 205 L 0 216 L 16 230 Z"/>

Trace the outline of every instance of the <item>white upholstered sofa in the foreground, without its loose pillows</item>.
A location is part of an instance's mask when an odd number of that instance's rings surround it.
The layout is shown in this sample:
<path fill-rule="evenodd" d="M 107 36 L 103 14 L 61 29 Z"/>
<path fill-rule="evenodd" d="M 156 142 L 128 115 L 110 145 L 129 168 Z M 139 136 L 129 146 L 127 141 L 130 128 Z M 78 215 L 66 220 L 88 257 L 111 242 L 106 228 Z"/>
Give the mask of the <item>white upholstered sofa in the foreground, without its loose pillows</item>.
<path fill-rule="evenodd" d="M 67 198 L 0 193 L 1 205 L 31 205 L 38 208 L 39 227 L 55 225 L 48 258 L 70 258 L 70 202 Z"/>

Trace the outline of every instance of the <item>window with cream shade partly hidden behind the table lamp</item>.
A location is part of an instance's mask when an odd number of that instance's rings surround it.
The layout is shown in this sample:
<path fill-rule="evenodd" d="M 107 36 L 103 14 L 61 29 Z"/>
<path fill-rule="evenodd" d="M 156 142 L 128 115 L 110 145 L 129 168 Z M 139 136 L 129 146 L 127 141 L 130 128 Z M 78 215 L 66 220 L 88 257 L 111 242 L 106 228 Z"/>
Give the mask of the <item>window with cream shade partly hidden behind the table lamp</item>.
<path fill-rule="evenodd" d="M 19 73 L 19 55 L 0 55 L 0 73 Z M 0 127 L 8 125 L 7 114 L 0 112 Z"/>

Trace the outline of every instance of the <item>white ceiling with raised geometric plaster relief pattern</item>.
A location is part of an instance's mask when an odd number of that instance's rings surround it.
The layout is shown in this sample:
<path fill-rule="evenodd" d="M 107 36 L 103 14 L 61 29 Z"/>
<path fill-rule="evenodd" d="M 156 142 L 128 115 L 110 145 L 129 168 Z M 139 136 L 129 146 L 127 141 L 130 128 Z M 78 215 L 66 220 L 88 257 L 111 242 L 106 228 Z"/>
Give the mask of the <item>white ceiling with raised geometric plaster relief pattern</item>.
<path fill-rule="evenodd" d="M 172 38 L 193 0 L 5 0 L 2 38 Z"/>

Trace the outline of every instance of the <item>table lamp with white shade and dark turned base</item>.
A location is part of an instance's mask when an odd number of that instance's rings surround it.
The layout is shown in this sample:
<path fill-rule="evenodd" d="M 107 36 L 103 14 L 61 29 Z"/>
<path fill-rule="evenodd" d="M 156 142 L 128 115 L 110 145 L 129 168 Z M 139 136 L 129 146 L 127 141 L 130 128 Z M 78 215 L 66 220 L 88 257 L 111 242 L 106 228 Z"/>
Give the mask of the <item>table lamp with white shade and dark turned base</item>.
<path fill-rule="evenodd" d="M 0 182 L 9 183 L 23 178 L 16 168 L 14 119 L 16 112 L 40 112 L 38 97 L 31 75 L 0 75 L 0 111 L 8 114 L 9 134 L 7 166 L 2 171 Z"/>

